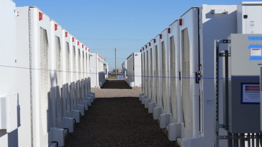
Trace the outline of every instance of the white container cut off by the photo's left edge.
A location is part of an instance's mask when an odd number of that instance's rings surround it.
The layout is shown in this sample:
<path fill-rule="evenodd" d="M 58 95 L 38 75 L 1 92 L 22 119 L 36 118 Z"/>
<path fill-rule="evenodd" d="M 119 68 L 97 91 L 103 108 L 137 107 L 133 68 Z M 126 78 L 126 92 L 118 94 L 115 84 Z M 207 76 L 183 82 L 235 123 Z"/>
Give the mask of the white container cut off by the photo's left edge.
<path fill-rule="evenodd" d="M 15 3 L 10 0 L 0 1 L 0 18 L 3 20 L 0 23 L 0 32 L 3 34 L 0 37 L 1 50 L 0 50 L 0 98 L 1 98 L 1 109 L 0 109 L 0 143 L 1 146 L 13 147 L 18 146 L 18 134 L 22 134 L 26 130 L 25 126 L 20 126 L 19 118 L 30 121 L 30 115 L 26 118 L 20 117 L 24 113 L 30 114 L 30 111 L 20 110 L 20 107 L 24 109 L 25 105 L 21 106 L 21 91 L 17 89 L 17 80 L 21 78 L 20 70 L 14 68 L 17 67 L 17 50 L 16 47 L 16 26 L 15 17 L 17 12 L 15 11 Z M 28 26 L 27 26 L 28 27 Z M 29 83 L 29 81 L 27 82 Z M 21 84 L 22 86 L 23 84 Z M 19 98 L 18 98 L 19 96 Z M 30 100 L 30 99 L 29 99 Z M 28 101 L 27 101 L 28 102 Z M 29 109 L 30 110 L 30 109 Z M 28 123 L 30 126 L 30 123 Z M 19 129 L 18 129 L 19 128 Z M 30 127 L 29 127 L 30 129 Z M 22 132 L 18 132 L 22 131 Z M 26 133 L 29 135 L 27 138 L 30 141 L 30 132 Z"/>

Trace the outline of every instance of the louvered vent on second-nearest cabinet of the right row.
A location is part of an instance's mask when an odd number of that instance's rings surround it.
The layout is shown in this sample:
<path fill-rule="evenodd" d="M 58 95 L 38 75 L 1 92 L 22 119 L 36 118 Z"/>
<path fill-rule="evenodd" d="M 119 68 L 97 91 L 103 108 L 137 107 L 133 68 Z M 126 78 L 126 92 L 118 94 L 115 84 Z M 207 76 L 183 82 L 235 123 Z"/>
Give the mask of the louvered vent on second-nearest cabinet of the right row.
<path fill-rule="evenodd" d="M 170 37 L 170 98 L 171 98 L 171 112 L 172 116 L 177 119 L 176 114 L 176 50 L 174 36 Z"/>

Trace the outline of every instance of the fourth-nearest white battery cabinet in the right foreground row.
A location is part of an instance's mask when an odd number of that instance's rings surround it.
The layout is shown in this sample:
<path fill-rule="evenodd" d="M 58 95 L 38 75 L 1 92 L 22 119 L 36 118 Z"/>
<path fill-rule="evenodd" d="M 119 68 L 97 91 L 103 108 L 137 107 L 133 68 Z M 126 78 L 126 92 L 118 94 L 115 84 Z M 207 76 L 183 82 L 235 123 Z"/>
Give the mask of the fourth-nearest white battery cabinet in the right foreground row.
<path fill-rule="evenodd" d="M 153 118 L 158 120 L 160 114 L 162 114 L 162 80 L 161 80 L 161 47 L 160 39 L 162 35 L 158 34 L 155 37 L 155 97 L 156 104 L 153 108 Z"/>

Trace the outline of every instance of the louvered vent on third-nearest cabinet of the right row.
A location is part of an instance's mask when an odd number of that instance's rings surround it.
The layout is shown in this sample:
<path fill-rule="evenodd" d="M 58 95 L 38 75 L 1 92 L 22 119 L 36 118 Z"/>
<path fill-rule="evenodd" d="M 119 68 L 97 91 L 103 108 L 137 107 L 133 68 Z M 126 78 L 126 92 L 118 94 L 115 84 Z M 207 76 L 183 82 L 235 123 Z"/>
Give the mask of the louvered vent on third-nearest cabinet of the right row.
<path fill-rule="evenodd" d="M 166 51 L 165 42 L 161 42 L 161 60 L 162 60 L 162 102 L 163 109 L 167 110 L 167 93 L 166 93 Z"/>

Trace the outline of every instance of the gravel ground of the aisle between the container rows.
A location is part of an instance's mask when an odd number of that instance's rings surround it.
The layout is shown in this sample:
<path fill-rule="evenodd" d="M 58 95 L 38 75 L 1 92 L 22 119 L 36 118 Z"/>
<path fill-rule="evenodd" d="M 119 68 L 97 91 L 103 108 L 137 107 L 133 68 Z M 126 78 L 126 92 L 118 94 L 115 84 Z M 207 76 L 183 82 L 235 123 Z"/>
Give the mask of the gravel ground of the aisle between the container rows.
<path fill-rule="evenodd" d="M 174 146 L 138 100 L 141 89 L 125 87 L 125 81 L 107 81 L 92 90 L 96 99 L 65 147 Z"/>

